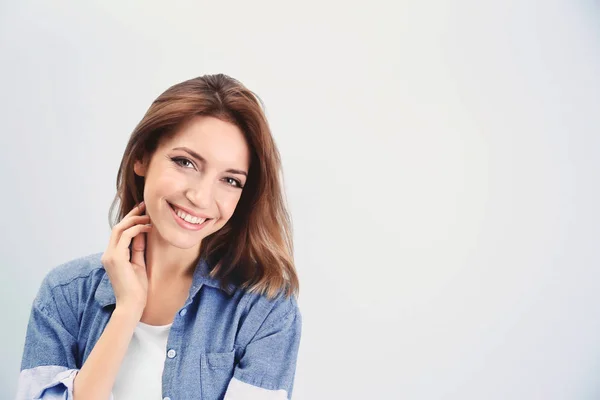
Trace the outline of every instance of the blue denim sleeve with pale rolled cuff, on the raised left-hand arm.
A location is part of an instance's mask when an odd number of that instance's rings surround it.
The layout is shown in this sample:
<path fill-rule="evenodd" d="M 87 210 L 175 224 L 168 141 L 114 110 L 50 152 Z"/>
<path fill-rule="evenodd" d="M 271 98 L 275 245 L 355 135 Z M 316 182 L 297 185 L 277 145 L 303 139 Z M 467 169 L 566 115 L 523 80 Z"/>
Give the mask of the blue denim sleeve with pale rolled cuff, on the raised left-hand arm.
<path fill-rule="evenodd" d="M 67 304 L 59 302 L 60 307 L 44 279 L 27 325 L 17 400 L 73 399 L 73 381 L 79 370 L 77 326 L 72 325 L 77 319 Z"/>

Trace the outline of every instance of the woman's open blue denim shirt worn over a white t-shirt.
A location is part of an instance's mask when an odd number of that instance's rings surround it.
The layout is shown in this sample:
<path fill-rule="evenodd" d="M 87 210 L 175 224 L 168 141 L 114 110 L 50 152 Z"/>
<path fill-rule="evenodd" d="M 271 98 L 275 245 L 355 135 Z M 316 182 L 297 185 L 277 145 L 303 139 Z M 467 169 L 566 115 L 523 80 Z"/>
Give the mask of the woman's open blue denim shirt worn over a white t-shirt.
<path fill-rule="evenodd" d="M 69 261 L 44 278 L 27 326 L 18 399 L 73 398 L 73 380 L 115 309 L 101 256 Z M 296 298 L 223 290 L 208 271 L 201 259 L 173 320 L 162 398 L 223 399 L 232 381 L 291 398 L 302 326 Z"/>

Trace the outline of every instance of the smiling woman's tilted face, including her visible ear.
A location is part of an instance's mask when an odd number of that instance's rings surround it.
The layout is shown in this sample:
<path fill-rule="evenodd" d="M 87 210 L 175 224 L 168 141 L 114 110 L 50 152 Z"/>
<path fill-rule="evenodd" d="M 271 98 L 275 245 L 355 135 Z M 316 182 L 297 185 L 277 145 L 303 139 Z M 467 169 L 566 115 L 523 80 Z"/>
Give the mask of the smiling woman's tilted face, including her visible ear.
<path fill-rule="evenodd" d="M 231 218 L 246 185 L 250 151 L 232 123 L 196 116 L 164 138 L 149 160 L 137 161 L 154 231 L 188 249 Z M 207 218 L 207 219 L 204 219 Z"/>

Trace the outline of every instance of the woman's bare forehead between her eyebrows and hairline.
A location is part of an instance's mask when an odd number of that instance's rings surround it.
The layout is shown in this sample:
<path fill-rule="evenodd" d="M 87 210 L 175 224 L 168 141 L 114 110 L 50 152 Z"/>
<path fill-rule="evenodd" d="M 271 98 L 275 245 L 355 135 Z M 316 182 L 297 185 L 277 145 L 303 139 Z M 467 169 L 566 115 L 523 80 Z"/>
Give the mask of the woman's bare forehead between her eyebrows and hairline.
<path fill-rule="evenodd" d="M 249 168 L 250 150 L 244 134 L 231 122 L 215 117 L 193 117 L 160 147 L 163 151 L 187 147 L 216 168 Z"/>

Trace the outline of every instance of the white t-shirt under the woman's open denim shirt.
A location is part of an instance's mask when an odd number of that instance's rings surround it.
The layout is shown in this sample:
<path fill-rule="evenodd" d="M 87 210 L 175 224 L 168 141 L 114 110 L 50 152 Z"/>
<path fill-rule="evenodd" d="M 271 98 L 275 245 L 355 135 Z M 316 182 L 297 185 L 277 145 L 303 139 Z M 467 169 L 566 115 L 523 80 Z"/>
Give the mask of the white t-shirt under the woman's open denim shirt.
<path fill-rule="evenodd" d="M 114 400 L 162 398 L 162 373 L 171 325 L 138 322 L 113 385 Z"/>

